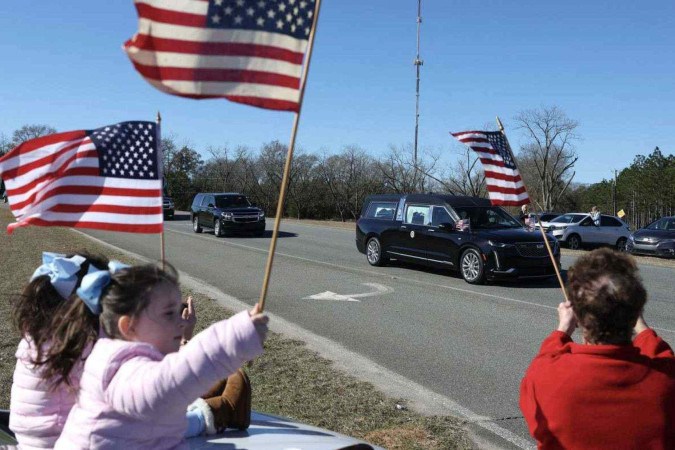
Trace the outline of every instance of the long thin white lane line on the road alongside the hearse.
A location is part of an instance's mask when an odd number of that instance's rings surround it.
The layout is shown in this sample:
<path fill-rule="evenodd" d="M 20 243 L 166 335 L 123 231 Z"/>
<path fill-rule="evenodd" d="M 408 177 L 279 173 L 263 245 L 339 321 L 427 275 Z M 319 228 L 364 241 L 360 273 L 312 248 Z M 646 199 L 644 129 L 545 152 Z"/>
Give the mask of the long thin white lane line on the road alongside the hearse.
<path fill-rule="evenodd" d="M 304 225 L 304 226 L 308 226 L 308 225 Z M 208 239 L 207 236 L 199 236 L 199 235 L 196 235 L 195 233 L 188 233 L 188 232 L 185 232 L 185 231 L 171 230 L 171 229 L 169 229 L 168 231 L 171 231 L 171 232 L 177 233 L 177 234 L 184 234 L 186 236 L 191 236 L 191 237 L 194 237 L 194 238 Z M 239 248 L 244 248 L 244 249 L 248 249 L 248 250 L 254 250 L 254 251 L 259 252 L 259 253 L 267 254 L 267 252 L 269 251 L 269 250 L 266 250 L 266 249 L 253 247 L 251 245 L 238 244 L 236 242 L 231 242 L 231 241 L 227 241 L 227 240 L 222 240 L 221 242 L 225 245 L 231 245 L 233 247 L 239 247 Z M 552 310 L 558 309 L 557 306 L 542 305 L 541 303 L 528 302 L 528 301 L 525 301 L 525 300 L 519 300 L 517 298 L 504 297 L 504 296 L 496 295 L 496 294 L 488 294 L 487 292 L 472 291 L 471 289 L 459 288 L 459 287 L 455 287 L 455 286 L 448 286 L 446 284 L 431 283 L 431 282 L 428 282 L 428 281 L 419 281 L 419 280 L 416 280 L 414 278 L 392 276 L 392 275 L 387 275 L 385 273 L 376 272 L 374 270 L 364 270 L 364 269 L 356 269 L 354 267 L 341 266 L 340 264 L 334 264 L 334 263 L 329 263 L 329 262 L 325 262 L 325 261 L 318 261 L 318 260 L 315 260 L 315 259 L 304 258 L 302 256 L 290 255 L 288 253 L 283 253 L 283 252 L 280 252 L 278 250 L 275 252 L 275 256 L 276 255 L 284 256 L 286 258 L 297 259 L 297 260 L 300 260 L 300 261 L 310 262 L 310 263 L 313 263 L 313 264 L 319 264 L 319 265 L 322 265 L 322 266 L 334 267 L 334 268 L 337 268 L 337 269 L 347 270 L 349 272 L 359 272 L 359 273 L 364 273 L 364 274 L 377 276 L 377 277 L 395 278 L 397 280 L 406 281 L 408 283 L 415 283 L 415 284 L 422 285 L 422 286 L 432 286 L 432 287 L 437 287 L 437 288 L 441 288 L 441 289 L 449 289 L 451 291 L 463 292 L 463 293 L 466 293 L 466 294 L 473 294 L 473 295 L 478 295 L 478 296 L 488 297 L 488 298 L 496 298 L 496 299 L 499 299 L 499 300 L 505 300 L 507 302 L 520 303 L 520 304 L 535 306 L 535 307 L 539 307 L 539 308 L 546 308 L 546 309 L 552 309 Z M 675 334 L 675 330 L 670 330 L 670 329 L 667 329 L 667 328 L 659 328 L 659 327 L 654 327 L 654 326 L 652 326 L 651 328 L 653 328 L 654 330 L 664 331 L 666 333 L 674 333 Z"/>

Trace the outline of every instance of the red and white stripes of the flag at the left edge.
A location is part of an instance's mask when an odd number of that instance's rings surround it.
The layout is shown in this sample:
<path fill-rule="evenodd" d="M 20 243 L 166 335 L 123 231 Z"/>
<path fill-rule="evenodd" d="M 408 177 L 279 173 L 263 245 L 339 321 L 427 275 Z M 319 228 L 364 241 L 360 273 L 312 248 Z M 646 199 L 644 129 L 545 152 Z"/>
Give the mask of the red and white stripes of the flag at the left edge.
<path fill-rule="evenodd" d="M 162 181 L 102 177 L 85 131 L 27 141 L 0 158 L 10 209 L 27 225 L 161 233 Z"/>

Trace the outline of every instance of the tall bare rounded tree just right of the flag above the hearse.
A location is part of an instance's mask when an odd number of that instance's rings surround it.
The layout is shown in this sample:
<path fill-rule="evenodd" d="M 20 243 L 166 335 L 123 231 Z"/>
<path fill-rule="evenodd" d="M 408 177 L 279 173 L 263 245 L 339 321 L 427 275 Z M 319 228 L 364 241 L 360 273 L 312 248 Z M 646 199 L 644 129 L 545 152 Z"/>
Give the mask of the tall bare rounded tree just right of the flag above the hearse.
<path fill-rule="evenodd" d="M 521 111 L 515 120 L 527 139 L 519 153 L 521 175 L 530 195 L 551 211 L 574 179 L 579 123 L 556 106 Z"/>

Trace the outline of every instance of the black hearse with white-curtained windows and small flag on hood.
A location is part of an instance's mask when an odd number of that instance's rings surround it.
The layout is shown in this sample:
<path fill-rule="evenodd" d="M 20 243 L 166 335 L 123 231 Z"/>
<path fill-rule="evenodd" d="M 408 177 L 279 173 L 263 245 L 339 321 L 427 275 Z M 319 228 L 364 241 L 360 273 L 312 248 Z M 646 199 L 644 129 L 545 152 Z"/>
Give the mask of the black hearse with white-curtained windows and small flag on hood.
<path fill-rule="evenodd" d="M 558 243 L 547 236 L 559 267 Z M 447 267 L 472 284 L 555 275 L 541 232 L 478 197 L 372 195 L 356 222 L 356 247 L 373 266 L 393 258 Z"/>

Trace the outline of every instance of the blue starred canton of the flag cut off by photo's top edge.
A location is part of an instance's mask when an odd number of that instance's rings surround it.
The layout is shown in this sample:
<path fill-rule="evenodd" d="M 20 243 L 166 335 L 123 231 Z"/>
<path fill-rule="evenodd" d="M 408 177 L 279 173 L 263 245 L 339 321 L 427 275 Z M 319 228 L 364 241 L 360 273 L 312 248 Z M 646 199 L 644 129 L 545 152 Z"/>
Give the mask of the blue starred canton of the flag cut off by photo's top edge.
<path fill-rule="evenodd" d="M 268 31 L 306 39 L 315 0 L 210 0 L 209 28 Z"/>

